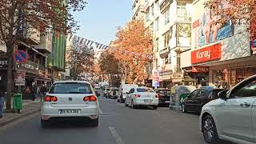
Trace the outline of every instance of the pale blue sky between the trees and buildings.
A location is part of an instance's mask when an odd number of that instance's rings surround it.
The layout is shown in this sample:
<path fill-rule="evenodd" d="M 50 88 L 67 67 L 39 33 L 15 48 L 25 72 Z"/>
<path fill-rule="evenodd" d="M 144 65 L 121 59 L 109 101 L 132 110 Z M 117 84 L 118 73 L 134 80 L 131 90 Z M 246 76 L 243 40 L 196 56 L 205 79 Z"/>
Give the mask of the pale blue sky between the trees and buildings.
<path fill-rule="evenodd" d="M 108 45 L 115 38 L 118 26 L 124 26 L 131 18 L 132 0 L 87 0 L 85 10 L 74 14 L 78 36 Z"/>

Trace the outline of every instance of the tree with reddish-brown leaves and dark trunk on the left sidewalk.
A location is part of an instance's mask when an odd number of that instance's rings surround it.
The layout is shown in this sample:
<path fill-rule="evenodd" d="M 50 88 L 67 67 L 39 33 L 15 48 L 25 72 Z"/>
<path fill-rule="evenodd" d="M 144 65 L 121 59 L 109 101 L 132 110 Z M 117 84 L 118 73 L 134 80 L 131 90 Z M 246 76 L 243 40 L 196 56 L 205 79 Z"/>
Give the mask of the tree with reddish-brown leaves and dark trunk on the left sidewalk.
<path fill-rule="evenodd" d="M 11 109 L 11 92 L 14 68 L 14 49 L 19 41 L 26 41 L 30 33 L 44 34 L 47 28 L 66 33 L 78 28 L 73 11 L 82 10 L 85 0 L 1 0 L 0 44 L 6 46 L 9 58 L 7 68 L 6 108 Z M 73 29 L 73 30 L 74 30 Z"/>

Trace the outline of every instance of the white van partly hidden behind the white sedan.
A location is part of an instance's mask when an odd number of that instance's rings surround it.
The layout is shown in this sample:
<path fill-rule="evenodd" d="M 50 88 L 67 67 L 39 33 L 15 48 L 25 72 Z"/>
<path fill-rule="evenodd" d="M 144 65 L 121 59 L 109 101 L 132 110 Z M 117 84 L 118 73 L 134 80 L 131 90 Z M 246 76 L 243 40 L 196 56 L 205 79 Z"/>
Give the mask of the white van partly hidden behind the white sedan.
<path fill-rule="evenodd" d="M 138 85 L 134 85 L 134 84 L 122 84 L 122 85 L 119 87 L 118 102 L 120 102 L 120 103 L 125 102 L 126 93 L 128 93 L 128 92 L 130 91 L 130 89 L 136 88 L 136 87 L 138 87 Z"/>

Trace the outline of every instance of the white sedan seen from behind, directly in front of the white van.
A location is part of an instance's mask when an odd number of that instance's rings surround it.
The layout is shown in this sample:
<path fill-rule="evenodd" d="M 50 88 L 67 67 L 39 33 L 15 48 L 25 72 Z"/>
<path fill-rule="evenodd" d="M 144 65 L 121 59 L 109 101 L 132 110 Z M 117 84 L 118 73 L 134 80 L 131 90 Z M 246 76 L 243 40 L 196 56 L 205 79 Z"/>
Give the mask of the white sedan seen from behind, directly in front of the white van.
<path fill-rule="evenodd" d="M 153 106 L 154 109 L 158 108 L 158 94 L 150 88 L 138 87 L 132 88 L 126 95 L 126 106 L 131 106 L 133 109 L 137 106 Z"/>

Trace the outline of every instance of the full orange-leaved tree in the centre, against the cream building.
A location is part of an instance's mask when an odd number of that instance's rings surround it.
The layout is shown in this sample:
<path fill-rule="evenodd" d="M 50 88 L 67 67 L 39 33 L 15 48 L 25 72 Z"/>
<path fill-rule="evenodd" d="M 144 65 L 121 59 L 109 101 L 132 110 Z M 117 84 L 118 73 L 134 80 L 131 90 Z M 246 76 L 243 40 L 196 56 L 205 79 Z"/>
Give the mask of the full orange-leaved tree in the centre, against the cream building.
<path fill-rule="evenodd" d="M 113 51 L 123 82 L 138 83 L 147 78 L 145 67 L 151 60 L 142 55 L 152 54 L 152 48 L 152 33 L 142 20 L 133 20 L 124 28 L 118 28 Z"/>

